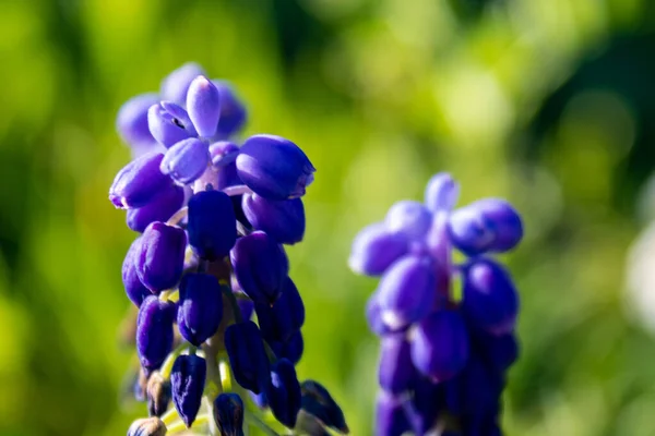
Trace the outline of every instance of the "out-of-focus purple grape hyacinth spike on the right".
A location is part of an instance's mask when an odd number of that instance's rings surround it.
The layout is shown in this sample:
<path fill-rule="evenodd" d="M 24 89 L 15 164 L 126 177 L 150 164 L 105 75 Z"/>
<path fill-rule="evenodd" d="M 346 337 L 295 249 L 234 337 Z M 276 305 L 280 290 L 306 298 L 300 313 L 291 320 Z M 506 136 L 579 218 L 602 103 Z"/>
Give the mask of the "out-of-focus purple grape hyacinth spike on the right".
<path fill-rule="evenodd" d="M 516 246 L 523 225 L 503 199 L 455 209 L 457 196 L 452 177 L 436 174 L 425 203 L 396 203 L 353 243 L 350 268 L 381 276 L 367 304 L 381 338 L 378 436 L 502 434 L 519 295 L 491 255 Z"/>

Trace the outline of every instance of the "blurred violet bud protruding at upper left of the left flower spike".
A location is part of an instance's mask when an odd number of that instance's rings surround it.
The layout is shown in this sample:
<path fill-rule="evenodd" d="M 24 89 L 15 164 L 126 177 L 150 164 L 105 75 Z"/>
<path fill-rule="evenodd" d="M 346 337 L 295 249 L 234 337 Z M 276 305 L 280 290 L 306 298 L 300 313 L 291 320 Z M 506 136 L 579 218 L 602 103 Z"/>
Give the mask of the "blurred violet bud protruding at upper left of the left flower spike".
<path fill-rule="evenodd" d="M 156 143 L 147 126 L 147 110 L 158 101 L 156 94 L 142 94 L 130 98 L 120 107 L 116 130 L 123 142 L 135 146 Z"/>

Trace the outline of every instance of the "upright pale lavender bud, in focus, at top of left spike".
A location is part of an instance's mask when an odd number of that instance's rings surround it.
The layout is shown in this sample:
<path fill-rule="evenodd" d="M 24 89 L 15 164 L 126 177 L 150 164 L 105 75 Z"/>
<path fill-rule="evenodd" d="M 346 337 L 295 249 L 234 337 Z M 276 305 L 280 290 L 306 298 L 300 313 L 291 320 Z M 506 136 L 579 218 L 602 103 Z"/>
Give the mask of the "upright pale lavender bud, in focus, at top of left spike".
<path fill-rule="evenodd" d="M 189 85 L 187 110 L 200 136 L 214 136 L 221 116 L 221 95 L 205 76 L 199 75 Z"/>

